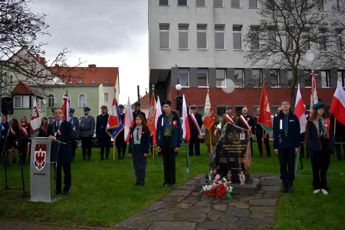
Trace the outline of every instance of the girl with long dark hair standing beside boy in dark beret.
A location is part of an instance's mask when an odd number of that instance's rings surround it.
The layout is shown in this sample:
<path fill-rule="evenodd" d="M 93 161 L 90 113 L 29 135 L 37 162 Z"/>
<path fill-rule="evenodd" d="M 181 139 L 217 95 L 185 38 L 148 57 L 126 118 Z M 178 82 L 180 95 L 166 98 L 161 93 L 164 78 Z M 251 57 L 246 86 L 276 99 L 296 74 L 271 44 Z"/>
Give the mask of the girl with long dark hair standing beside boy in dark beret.
<path fill-rule="evenodd" d="M 133 156 L 136 186 L 144 186 L 146 157 L 150 148 L 150 130 L 142 115 L 135 117 L 135 125 L 130 130 L 128 155 Z"/>

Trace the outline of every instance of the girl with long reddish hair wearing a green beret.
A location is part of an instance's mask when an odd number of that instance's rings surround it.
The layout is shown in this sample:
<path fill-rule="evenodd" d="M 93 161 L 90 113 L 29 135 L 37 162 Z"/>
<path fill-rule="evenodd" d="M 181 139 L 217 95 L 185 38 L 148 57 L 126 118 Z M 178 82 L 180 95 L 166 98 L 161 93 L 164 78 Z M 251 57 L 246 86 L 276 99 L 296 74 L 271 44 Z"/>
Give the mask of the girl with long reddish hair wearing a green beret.
<path fill-rule="evenodd" d="M 331 120 L 326 116 L 325 104 L 313 106 L 313 113 L 306 126 L 308 156 L 312 161 L 314 193 L 327 195 L 326 174 L 330 156 L 334 155 L 334 137 Z"/>

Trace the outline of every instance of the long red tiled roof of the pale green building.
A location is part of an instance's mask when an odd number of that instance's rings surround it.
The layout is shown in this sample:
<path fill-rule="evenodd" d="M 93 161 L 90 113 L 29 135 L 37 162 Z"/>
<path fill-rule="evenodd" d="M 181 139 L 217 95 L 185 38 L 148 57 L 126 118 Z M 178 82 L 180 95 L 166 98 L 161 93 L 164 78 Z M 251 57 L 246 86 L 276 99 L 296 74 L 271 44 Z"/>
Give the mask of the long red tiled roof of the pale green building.
<path fill-rule="evenodd" d="M 59 66 L 55 66 L 50 69 L 53 72 L 62 75 L 64 72 L 67 72 L 69 68 L 71 67 L 61 68 Z M 115 85 L 118 71 L 118 67 L 96 67 L 95 64 L 89 65 L 88 67 L 74 67 L 68 75 L 75 78 L 66 79 L 66 84 Z M 82 82 L 79 83 L 79 81 Z"/>

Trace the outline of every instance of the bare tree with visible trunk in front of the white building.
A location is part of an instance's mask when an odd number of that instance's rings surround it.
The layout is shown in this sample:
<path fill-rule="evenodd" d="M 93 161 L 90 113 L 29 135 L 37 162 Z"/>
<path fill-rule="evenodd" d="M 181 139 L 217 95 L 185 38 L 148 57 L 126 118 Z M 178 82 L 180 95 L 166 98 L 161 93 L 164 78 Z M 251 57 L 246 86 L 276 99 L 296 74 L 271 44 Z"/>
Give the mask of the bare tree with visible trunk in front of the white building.
<path fill-rule="evenodd" d="M 244 41 L 249 48 L 245 58 L 256 68 L 284 69 L 287 78 L 278 79 L 272 71 L 265 77 L 268 87 L 290 88 L 292 108 L 299 82 L 310 86 L 309 73 L 314 67 L 314 53 L 328 44 L 330 29 L 327 14 L 320 9 L 326 0 L 258 0 L 258 25 L 249 25 Z M 262 84 L 261 76 L 248 85 Z"/>

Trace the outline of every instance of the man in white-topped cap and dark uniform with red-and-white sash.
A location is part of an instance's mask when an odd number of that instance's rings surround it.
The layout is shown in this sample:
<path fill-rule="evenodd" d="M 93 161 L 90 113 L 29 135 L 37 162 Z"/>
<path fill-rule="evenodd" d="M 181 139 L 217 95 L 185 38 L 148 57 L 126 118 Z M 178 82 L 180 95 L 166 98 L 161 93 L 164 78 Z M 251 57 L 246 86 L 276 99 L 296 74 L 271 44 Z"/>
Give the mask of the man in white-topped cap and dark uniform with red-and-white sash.
<path fill-rule="evenodd" d="M 189 156 L 193 156 L 195 147 L 195 156 L 200 156 L 200 138 L 199 130 L 203 125 L 201 114 L 197 113 L 197 106 L 194 104 L 190 107 L 191 113 L 188 115 L 190 138 L 189 138 Z M 193 118 L 194 116 L 194 118 Z"/>

